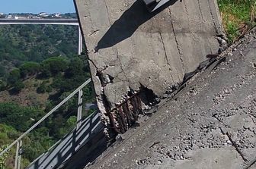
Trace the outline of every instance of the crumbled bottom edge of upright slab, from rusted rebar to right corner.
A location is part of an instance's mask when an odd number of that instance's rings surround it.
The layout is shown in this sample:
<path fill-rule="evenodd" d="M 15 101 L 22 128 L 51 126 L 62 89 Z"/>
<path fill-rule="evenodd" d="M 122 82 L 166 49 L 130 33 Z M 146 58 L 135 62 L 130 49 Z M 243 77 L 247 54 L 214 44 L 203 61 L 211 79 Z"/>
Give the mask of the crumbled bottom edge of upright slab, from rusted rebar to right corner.
<path fill-rule="evenodd" d="M 220 46 L 222 46 L 222 48 L 226 48 L 226 44 L 227 44 L 226 40 L 222 38 L 219 38 L 219 39 L 220 39 L 219 40 Z M 222 50 L 223 49 L 221 49 L 220 47 L 219 51 L 221 52 Z M 105 133 L 107 137 L 111 138 L 110 131 L 109 131 L 110 128 L 114 129 L 116 133 L 125 133 L 126 130 L 128 130 L 128 128 L 131 127 L 136 122 L 139 114 L 144 114 L 145 111 L 149 111 L 149 109 L 151 109 L 152 107 L 154 107 L 154 105 L 160 102 L 160 99 L 165 99 L 166 97 L 168 97 L 168 95 L 173 95 L 173 93 L 176 90 L 180 89 L 180 87 L 183 86 L 183 84 L 186 83 L 187 80 L 190 79 L 190 77 L 193 77 L 195 74 L 200 72 L 200 70 L 203 70 L 206 67 L 209 67 L 209 65 L 213 64 L 215 60 L 216 60 L 215 58 L 210 58 L 200 63 L 200 65 L 197 67 L 196 70 L 184 75 L 184 79 L 181 81 L 181 83 L 174 83 L 172 86 L 169 86 L 169 89 L 165 91 L 165 95 L 162 95 L 162 96 L 155 95 L 152 89 L 149 89 L 147 86 L 143 86 L 141 83 L 138 90 L 133 90 L 129 86 L 129 89 L 127 89 L 126 95 L 123 95 L 123 100 L 118 103 L 115 103 L 115 105 L 110 105 L 110 102 L 107 100 L 107 96 L 104 95 L 104 86 L 106 86 L 107 83 L 111 83 L 110 75 L 108 76 L 105 75 L 105 77 L 103 77 L 101 74 L 102 70 L 100 71 L 97 70 L 96 77 L 98 77 L 98 80 L 101 82 L 101 97 L 97 98 L 98 107 L 102 113 L 101 119 L 102 121 L 104 121 L 104 124 L 106 126 Z M 89 59 L 89 61 L 91 60 Z M 91 61 L 91 63 L 94 64 L 93 61 Z M 148 92 L 149 95 L 152 95 L 151 99 L 149 100 L 149 97 L 143 97 L 142 91 Z M 102 100 L 100 100 L 99 98 L 101 98 Z M 139 100 L 139 102 L 136 102 L 136 104 L 139 104 L 139 106 L 131 104 L 134 102 L 133 98 Z M 125 107 L 123 107 L 123 105 Z M 115 111 L 118 111 L 118 113 L 115 113 Z M 136 112 L 136 114 L 134 114 L 134 112 Z M 125 114 L 127 113 L 130 113 L 130 117 L 128 118 L 122 117 L 122 115 L 120 117 L 117 117 L 116 115 L 116 114 L 123 114 L 123 116 L 125 116 Z M 134 116 L 132 114 L 134 114 Z M 115 124 L 114 121 L 118 121 L 118 123 Z M 112 124 L 111 127 L 109 126 L 110 124 Z M 128 126 L 124 126 L 126 124 L 128 124 Z M 118 130 L 117 128 L 119 128 L 120 130 Z"/>

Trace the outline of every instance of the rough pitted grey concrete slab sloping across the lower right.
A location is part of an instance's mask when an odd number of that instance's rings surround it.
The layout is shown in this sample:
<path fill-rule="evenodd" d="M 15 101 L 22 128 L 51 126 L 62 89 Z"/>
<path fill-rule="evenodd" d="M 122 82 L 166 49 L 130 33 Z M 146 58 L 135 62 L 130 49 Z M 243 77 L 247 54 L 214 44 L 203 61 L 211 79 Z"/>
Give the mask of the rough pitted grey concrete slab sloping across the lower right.
<path fill-rule="evenodd" d="M 86 168 L 240 169 L 255 161 L 256 28 L 223 55 Z"/>

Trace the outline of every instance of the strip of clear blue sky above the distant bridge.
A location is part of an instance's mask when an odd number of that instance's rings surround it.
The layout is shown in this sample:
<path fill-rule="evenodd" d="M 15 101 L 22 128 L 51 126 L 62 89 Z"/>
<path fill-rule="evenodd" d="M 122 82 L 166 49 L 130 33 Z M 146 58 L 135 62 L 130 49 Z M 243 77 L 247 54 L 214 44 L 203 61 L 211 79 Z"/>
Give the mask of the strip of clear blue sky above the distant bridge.
<path fill-rule="evenodd" d="M 0 0 L 0 13 L 73 13 L 73 0 Z"/>

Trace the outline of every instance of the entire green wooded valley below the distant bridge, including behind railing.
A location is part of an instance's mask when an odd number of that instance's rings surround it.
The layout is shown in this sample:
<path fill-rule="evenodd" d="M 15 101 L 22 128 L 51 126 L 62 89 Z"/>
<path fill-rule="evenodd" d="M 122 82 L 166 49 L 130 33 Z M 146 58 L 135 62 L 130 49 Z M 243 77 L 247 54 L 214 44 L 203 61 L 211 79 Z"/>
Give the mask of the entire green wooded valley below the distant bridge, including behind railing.
<path fill-rule="evenodd" d="M 0 26 L 0 152 L 90 78 L 77 47 L 77 27 Z M 83 92 L 84 104 L 94 102 L 92 84 Z M 77 102 L 73 97 L 24 137 L 25 166 L 75 127 Z M 13 168 L 14 153 L 0 157 L 0 169 Z"/>

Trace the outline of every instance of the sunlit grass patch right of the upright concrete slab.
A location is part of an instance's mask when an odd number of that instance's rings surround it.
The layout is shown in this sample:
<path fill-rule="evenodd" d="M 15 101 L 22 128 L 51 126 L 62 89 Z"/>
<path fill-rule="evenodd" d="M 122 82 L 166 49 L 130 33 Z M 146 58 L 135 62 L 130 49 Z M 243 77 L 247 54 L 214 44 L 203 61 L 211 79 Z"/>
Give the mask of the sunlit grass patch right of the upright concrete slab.
<path fill-rule="evenodd" d="M 255 0 L 218 0 L 222 23 L 229 43 L 245 35 L 256 25 Z"/>

